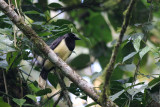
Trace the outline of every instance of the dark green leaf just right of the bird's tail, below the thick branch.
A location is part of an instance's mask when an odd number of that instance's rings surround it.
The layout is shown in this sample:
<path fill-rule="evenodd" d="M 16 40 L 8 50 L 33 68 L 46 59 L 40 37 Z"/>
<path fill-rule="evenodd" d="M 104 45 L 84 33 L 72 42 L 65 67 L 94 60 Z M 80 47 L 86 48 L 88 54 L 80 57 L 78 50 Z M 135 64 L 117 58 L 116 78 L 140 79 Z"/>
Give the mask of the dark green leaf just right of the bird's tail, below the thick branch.
<path fill-rule="evenodd" d="M 58 85 L 58 78 L 56 75 L 53 75 L 52 73 L 48 74 L 48 80 L 49 82 L 54 86 L 54 88 L 57 88 Z"/>

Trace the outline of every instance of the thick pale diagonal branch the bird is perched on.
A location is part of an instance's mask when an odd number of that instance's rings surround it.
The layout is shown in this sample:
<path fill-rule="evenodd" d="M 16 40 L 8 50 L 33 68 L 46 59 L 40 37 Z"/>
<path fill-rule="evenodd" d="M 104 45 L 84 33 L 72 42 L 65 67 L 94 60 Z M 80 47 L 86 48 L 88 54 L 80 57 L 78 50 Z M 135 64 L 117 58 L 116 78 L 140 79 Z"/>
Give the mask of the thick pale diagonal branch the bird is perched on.
<path fill-rule="evenodd" d="M 75 83 L 81 90 L 83 90 L 95 102 L 101 105 L 99 95 L 94 90 L 92 84 L 89 84 L 81 76 L 79 76 L 70 66 L 68 66 L 62 59 L 60 59 L 53 50 L 38 37 L 37 33 L 17 15 L 17 13 L 9 7 L 4 1 L 0 0 L 0 9 L 10 18 L 10 20 L 26 35 L 26 37 L 37 47 L 40 52 L 48 58 L 52 63 L 59 67 L 63 74 Z"/>

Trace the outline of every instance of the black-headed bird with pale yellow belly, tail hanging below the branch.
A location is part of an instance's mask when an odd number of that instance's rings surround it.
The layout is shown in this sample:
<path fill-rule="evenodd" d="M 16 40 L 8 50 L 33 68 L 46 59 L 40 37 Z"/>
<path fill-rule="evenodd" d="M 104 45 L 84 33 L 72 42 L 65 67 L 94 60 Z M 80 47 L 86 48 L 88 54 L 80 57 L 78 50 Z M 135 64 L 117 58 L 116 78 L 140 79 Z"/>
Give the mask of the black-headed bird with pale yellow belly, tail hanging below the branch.
<path fill-rule="evenodd" d="M 63 60 L 66 61 L 67 58 L 72 54 L 74 48 L 75 48 L 75 41 L 80 40 L 75 34 L 73 33 L 67 33 L 63 36 L 58 37 L 55 39 L 51 45 L 50 48 Z M 42 70 L 40 72 L 38 85 L 41 89 L 45 89 L 46 87 L 46 80 L 48 73 L 51 70 L 54 70 L 56 66 L 51 63 L 48 59 L 42 59 L 42 57 L 37 58 L 42 64 Z"/>

